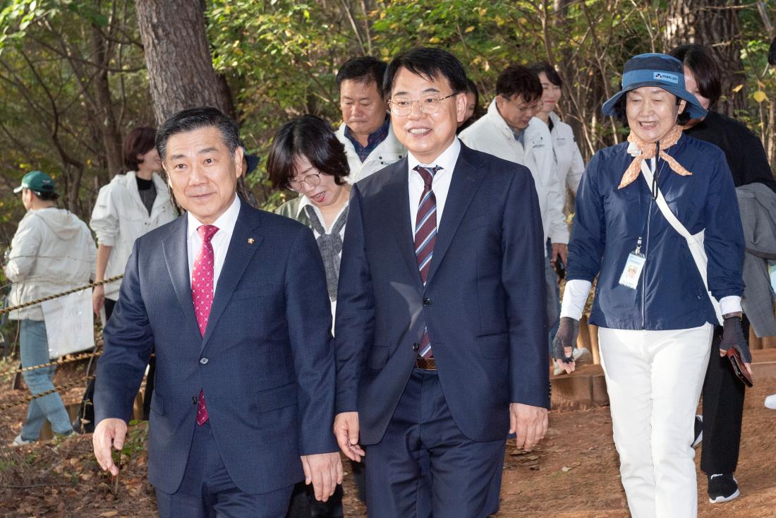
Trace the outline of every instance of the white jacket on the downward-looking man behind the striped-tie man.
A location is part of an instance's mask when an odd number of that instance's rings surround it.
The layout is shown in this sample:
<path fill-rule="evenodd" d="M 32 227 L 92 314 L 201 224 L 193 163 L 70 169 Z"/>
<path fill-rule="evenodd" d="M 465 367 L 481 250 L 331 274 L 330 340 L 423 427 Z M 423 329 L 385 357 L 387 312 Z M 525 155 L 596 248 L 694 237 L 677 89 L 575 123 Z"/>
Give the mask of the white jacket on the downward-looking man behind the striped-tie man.
<path fill-rule="evenodd" d="M 531 170 L 539 196 L 544 240 L 568 243 L 569 228 L 563 215 L 563 195 L 555 171 L 555 157 L 550 144 L 549 128 L 542 120 L 533 117 L 525 128 L 525 148 L 515 140 L 514 133 L 498 113 L 496 100 L 488 106 L 487 113 L 459 135 L 469 148 L 490 153 L 510 162 L 525 165 Z"/>

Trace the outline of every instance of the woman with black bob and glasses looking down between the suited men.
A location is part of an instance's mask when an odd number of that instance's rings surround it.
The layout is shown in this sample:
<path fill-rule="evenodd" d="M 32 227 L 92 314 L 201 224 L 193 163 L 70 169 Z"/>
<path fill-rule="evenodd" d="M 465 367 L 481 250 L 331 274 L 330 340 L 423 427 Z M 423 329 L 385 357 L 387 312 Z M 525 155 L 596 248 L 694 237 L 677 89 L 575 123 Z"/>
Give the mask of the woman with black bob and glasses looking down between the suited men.
<path fill-rule="evenodd" d="M 313 230 L 324 260 L 334 315 L 342 238 L 345 236 L 350 198 L 350 184 L 345 181 L 350 172 L 345 146 L 324 120 L 313 115 L 301 116 L 284 124 L 275 134 L 267 158 L 267 172 L 272 186 L 300 194 L 283 203 L 275 212 Z M 356 483 L 359 484 L 359 477 L 363 475 L 355 471 L 360 466 L 353 464 Z M 309 514 L 303 509 L 309 509 Z M 300 482 L 294 488 L 288 516 L 303 516 L 303 513 L 311 518 L 342 516 L 342 486 L 338 485 L 327 502 L 320 502 Z"/>

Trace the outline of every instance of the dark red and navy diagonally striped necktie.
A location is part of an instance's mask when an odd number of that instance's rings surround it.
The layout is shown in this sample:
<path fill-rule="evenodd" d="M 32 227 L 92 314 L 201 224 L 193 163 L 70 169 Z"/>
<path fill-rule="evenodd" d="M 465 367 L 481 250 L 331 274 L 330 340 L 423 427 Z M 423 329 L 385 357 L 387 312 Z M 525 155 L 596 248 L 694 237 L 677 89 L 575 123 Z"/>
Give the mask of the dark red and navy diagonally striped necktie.
<path fill-rule="evenodd" d="M 423 179 L 423 193 L 417 203 L 417 216 L 415 217 L 415 256 L 417 256 L 417 269 L 421 273 L 423 286 L 426 285 L 428 270 L 431 269 L 431 257 L 434 256 L 434 244 L 436 242 L 436 196 L 431 189 L 434 175 L 442 169 L 439 166 L 427 168 L 422 165 L 415 166 Z M 423 330 L 423 338 L 418 348 L 418 356 L 428 360 L 434 356 L 431 350 L 431 340 L 428 338 L 428 328 Z"/>

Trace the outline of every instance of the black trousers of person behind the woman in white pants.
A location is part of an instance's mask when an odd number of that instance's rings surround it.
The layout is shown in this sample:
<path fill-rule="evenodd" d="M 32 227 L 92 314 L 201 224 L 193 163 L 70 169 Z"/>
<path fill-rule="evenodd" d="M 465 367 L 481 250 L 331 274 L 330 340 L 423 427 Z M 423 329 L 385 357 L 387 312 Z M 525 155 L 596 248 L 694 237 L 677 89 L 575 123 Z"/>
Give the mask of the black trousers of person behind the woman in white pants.
<path fill-rule="evenodd" d="M 749 320 L 743 317 L 743 335 L 749 337 Z M 703 444 L 701 471 L 706 475 L 733 473 L 738 464 L 743 417 L 744 384 L 730 360 L 719 356 L 722 326 L 714 329 L 712 355 L 703 382 Z"/>

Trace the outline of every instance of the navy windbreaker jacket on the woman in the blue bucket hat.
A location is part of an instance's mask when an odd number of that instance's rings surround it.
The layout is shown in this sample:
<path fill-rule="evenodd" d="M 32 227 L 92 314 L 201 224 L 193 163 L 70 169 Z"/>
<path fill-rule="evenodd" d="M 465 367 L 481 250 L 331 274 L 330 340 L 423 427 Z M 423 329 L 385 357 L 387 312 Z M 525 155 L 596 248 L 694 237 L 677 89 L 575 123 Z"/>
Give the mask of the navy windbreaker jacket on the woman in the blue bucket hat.
<path fill-rule="evenodd" d="M 590 322 L 610 329 L 691 329 L 716 324 L 685 239 L 670 226 L 643 176 L 617 186 L 632 162 L 628 143 L 598 151 L 577 192 L 568 280 L 600 273 Z M 743 230 L 725 155 L 713 144 L 682 135 L 667 150 L 691 176 L 662 159 L 656 172 L 668 206 L 691 234 L 705 228 L 708 288 L 717 300 L 743 294 Z M 619 284 L 629 253 L 642 237 L 646 264 L 636 290 Z"/>

